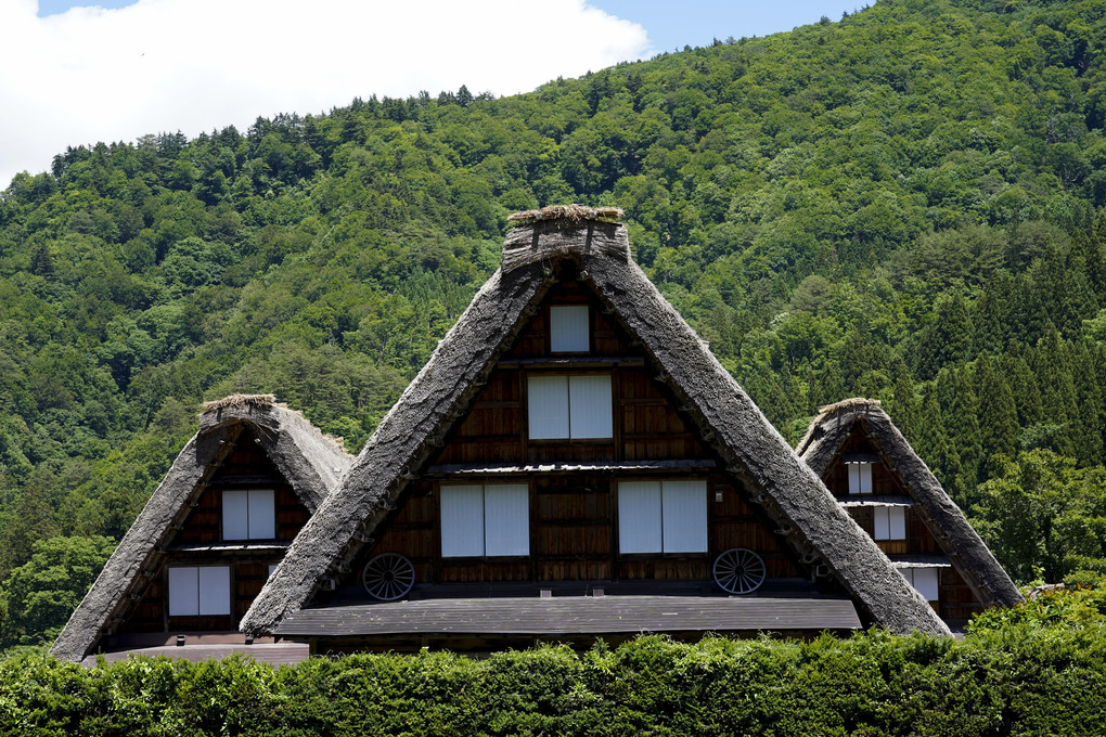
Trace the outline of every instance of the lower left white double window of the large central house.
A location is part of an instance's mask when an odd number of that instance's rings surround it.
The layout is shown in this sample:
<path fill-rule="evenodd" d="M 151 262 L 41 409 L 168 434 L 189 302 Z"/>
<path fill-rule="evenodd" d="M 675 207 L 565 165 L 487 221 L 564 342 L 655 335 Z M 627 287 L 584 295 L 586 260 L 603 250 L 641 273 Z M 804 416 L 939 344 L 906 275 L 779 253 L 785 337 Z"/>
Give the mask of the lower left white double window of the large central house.
<path fill-rule="evenodd" d="M 441 557 L 530 555 L 525 484 L 441 487 Z"/>

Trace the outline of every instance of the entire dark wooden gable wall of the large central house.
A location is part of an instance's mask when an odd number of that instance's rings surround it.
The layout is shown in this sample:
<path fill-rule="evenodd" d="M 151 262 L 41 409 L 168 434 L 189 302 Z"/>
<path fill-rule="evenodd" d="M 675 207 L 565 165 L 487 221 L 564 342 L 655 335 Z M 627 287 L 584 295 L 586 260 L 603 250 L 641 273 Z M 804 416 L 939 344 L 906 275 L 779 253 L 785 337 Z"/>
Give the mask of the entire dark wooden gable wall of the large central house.
<path fill-rule="evenodd" d="M 550 351 L 549 310 L 553 305 L 589 306 L 591 349 L 586 354 Z M 609 439 L 528 438 L 528 376 L 597 372 L 612 377 Z M 650 463 L 667 463 L 669 467 L 646 467 Z M 534 467 L 541 464 L 584 467 Z M 363 567 L 382 552 L 399 552 L 411 560 L 416 577 L 413 596 L 419 597 L 452 596 L 459 590 L 480 596 L 481 591 L 556 588 L 568 582 L 593 582 L 607 590 L 690 587 L 697 593 L 721 593 L 712 583 L 711 566 L 720 552 L 734 547 L 759 552 L 770 579 L 806 586 L 810 571 L 794 559 L 759 508 L 748 502 L 750 495 L 742 484 L 719 471 L 720 465 L 695 427 L 680 414 L 671 392 L 654 378 L 641 347 L 604 315 L 601 303 L 585 288 L 573 281 L 563 282 L 505 351 L 442 450 L 419 470 L 419 478 L 410 483 L 390 518 L 377 527 L 377 539 L 362 550 L 340 590 L 321 594 L 319 603 L 365 599 Z M 620 554 L 618 483 L 671 478 L 706 483 L 707 551 Z M 526 484 L 530 555 L 442 558 L 440 491 L 442 485 L 457 483 Z"/>

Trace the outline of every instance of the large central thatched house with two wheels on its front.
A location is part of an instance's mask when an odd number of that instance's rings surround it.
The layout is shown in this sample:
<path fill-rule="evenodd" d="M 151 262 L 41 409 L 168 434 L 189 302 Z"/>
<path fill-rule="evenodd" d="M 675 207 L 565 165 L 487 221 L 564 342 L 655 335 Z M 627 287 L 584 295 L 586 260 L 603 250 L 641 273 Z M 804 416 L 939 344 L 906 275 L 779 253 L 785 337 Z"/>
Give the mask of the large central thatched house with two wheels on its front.
<path fill-rule="evenodd" d="M 244 632 L 948 633 L 634 263 L 618 214 L 513 219 Z"/>

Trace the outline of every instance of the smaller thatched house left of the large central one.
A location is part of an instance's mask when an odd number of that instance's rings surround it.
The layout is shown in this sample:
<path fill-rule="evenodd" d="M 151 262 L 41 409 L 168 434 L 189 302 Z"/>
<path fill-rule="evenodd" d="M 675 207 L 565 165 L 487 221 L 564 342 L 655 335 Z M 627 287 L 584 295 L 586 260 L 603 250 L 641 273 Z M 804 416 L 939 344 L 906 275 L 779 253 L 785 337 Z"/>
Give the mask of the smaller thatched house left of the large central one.
<path fill-rule="evenodd" d="M 208 402 L 199 424 L 70 617 L 55 656 L 80 661 L 106 640 L 233 631 L 353 461 L 268 394 Z"/>

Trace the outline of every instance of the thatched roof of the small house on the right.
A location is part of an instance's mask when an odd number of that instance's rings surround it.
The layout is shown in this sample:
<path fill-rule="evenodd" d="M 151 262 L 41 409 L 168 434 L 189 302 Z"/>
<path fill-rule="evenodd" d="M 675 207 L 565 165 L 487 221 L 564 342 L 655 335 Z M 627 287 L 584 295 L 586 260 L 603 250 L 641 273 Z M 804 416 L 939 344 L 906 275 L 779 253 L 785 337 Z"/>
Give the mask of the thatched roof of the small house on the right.
<path fill-rule="evenodd" d="M 915 509 L 980 600 L 987 606 L 1003 607 L 1021 601 L 1022 596 L 1006 571 L 879 407 L 878 400 L 846 399 L 823 407 L 796 450 L 821 476 L 838 456 L 857 423 L 876 445 L 884 462 L 898 474 L 914 498 Z"/>

